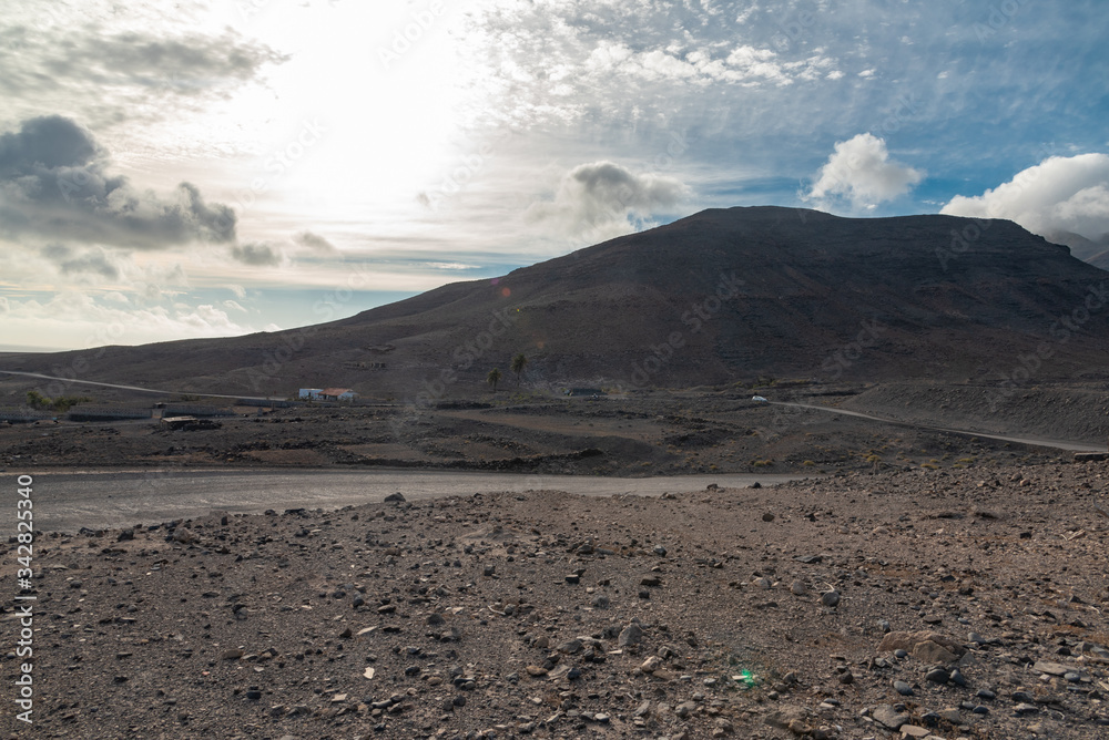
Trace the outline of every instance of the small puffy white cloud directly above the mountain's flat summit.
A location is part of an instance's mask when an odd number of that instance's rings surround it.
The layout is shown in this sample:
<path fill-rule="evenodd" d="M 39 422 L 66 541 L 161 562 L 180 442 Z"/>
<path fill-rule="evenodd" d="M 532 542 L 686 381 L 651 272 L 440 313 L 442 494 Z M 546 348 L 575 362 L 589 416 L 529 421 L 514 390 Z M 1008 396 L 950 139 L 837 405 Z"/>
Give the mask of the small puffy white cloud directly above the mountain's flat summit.
<path fill-rule="evenodd" d="M 873 208 L 905 195 L 922 179 L 923 172 L 889 160 L 885 140 L 858 134 L 835 143 L 807 198 L 824 202 L 843 197 L 855 208 Z"/>

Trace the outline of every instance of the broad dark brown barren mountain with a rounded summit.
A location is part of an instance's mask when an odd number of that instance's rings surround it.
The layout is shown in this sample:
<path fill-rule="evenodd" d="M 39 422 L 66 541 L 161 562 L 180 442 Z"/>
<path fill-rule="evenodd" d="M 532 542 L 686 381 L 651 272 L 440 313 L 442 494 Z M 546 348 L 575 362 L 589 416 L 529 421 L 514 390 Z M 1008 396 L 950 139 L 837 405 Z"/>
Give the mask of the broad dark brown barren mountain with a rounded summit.
<path fill-rule="evenodd" d="M 0 366 L 232 394 L 346 386 L 409 398 L 481 390 L 495 366 L 511 387 L 518 352 L 527 381 L 551 387 L 998 380 L 1019 368 L 1074 378 L 1100 372 L 1109 350 L 1107 279 L 1006 220 L 711 209 L 330 323 Z"/>

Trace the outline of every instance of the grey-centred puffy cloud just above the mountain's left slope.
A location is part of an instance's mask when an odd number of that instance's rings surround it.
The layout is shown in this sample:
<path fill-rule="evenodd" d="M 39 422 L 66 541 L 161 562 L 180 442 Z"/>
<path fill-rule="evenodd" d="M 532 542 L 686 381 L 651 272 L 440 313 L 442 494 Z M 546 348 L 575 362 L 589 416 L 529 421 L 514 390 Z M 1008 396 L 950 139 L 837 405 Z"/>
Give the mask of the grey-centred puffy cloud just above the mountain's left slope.
<path fill-rule="evenodd" d="M 600 240 L 634 230 L 632 217 L 647 218 L 689 196 L 673 177 L 635 174 L 613 162 L 581 164 L 566 173 L 552 201 L 532 203 L 528 220 L 566 236 Z"/>

